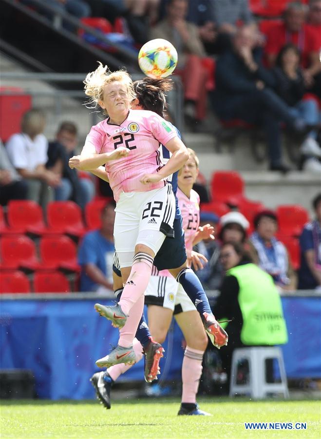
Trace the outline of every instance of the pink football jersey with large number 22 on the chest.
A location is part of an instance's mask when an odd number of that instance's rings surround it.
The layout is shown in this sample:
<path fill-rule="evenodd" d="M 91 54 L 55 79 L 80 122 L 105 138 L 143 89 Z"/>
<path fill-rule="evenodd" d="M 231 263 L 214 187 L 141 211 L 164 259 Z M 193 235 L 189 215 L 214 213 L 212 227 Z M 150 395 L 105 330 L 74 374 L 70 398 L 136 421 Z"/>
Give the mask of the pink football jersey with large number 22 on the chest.
<path fill-rule="evenodd" d="M 130 149 L 127 157 L 105 165 L 117 202 L 121 192 L 146 192 L 166 184 L 164 180 L 143 184 L 140 179 L 145 174 L 155 174 L 162 167 L 159 146 L 176 136 L 176 130 L 156 113 L 130 110 L 120 125 L 110 124 L 108 119 L 94 125 L 86 144 L 94 145 L 97 154 L 112 152 L 120 146 Z"/>

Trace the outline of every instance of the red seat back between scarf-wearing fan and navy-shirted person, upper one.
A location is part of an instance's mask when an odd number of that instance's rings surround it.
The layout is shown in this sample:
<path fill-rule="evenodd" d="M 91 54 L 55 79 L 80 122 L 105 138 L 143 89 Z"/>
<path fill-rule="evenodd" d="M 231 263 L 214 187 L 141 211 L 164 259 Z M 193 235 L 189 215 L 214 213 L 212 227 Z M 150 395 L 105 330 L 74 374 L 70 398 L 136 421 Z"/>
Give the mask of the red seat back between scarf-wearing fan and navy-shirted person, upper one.
<path fill-rule="evenodd" d="M 308 212 L 298 204 L 284 204 L 277 208 L 279 236 L 300 236 L 309 221 Z"/>

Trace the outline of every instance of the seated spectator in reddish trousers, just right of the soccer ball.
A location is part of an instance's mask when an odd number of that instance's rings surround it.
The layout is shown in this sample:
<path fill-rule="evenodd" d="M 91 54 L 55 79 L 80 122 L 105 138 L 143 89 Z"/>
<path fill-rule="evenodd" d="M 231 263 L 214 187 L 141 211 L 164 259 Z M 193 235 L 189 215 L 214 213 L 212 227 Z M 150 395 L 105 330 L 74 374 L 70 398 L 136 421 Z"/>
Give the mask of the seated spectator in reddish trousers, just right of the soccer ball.
<path fill-rule="evenodd" d="M 169 0 L 167 17 L 151 29 L 151 38 L 169 40 L 178 52 L 176 73 L 182 76 L 185 88 L 185 115 L 192 121 L 206 116 L 208 71 L 202 65 L 206 56 L 195 24 L 186 21 L 187 0 Z"/>

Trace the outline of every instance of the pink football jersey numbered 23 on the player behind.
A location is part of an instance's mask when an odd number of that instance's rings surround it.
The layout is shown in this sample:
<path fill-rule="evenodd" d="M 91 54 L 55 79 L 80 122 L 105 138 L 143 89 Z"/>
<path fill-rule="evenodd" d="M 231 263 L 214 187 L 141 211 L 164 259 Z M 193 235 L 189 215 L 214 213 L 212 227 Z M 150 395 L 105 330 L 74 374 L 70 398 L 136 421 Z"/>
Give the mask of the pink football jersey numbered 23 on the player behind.
<path fill-rule="evenodd" d="M 188 198 L 184 192 L 177 188 L 178 205 L 181 209 L 183 229 L 185 232 L 185 247 L 188 258 L 193 249 L 193 240 L 200 225 L 200 197 L 193 189 Z"/>

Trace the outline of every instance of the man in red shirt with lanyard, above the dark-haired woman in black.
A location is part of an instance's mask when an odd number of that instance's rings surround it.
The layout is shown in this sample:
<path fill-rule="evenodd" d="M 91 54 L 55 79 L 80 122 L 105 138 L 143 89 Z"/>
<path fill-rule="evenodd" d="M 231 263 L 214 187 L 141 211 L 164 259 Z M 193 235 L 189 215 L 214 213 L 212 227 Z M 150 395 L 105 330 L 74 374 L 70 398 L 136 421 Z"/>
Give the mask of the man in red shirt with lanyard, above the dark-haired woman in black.
<path fill-rule="evenodd" d="M 270 66 L 275 64 L 278 53 L 286 43 L 295 44 L 301 54 L 304 80 L 311 86 L 313 77 L 320 72 L 320 45 L 315 33 L 305 24 L 307 8 L 301 1 L 286 5 L 284 20 L 270 28 L 266 35 L 265 52 Z"/>

